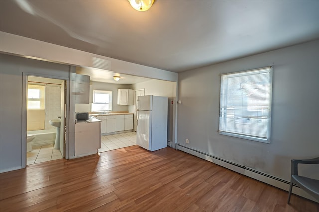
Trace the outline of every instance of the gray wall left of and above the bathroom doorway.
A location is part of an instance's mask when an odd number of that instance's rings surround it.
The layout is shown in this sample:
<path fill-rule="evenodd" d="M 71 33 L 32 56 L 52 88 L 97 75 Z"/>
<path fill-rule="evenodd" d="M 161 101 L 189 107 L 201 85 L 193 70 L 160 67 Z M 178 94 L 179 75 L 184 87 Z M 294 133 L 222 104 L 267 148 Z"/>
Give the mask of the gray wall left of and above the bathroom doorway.
<path fill-rule="evenodd" d="M 23 167 L 22 75 L 69 78 L 70 66 L 40 60 L 0 55 L 0 172 Z M 25 146 L 25 143 L 24 143 Z"/>

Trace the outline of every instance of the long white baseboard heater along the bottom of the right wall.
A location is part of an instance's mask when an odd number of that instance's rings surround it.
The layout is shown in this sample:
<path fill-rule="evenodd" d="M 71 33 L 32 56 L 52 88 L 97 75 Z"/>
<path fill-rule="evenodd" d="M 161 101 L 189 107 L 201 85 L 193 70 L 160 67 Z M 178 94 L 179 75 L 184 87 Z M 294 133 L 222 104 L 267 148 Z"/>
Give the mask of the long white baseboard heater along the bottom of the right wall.
<path fill-rule="evenodd" d="M 248 166 L 243 166 L 222 158 L 218 158 L 216 156 L 207 154 L 205 152 L 201 152 L 199 150 L 189 148 L 187 146 L 181 145 L 179 143 L 176 143 L 176 149 L 181 150 L 183 152 L 189 153 L 191 155 L 194 155 L 196 157 L 202 158 L 204 160 L 210 161 L 212 163 L 215 163 L 217 165 L 223 166 L 227 169 L 230 169 L 232 171 L 238 172 L 242 175 L 254 178 L 256 180 L 259 180 L 261 182 L 267 183 L 269 185 L 275 186 L 277 188 L 283 189 L 285 191 L 289 191 L 289 181 L 283 180 L 281 178 L 260 172 L 258 170 L 255 170 L 253 168 L 250 168 Z M 293 186 L 292 193 L 302 196 L 304 198 L 307 198 L 309 200 L 312 200 L 314 202 L 318 202 L 313 197 L 308 195 L 306 192 L 304 192 L 302 189 L 300 189 L 298 186 Z M 288 194 L 287 194 L 288 195 Z M 288 196 L 287 196 L 288 197 Z"/>

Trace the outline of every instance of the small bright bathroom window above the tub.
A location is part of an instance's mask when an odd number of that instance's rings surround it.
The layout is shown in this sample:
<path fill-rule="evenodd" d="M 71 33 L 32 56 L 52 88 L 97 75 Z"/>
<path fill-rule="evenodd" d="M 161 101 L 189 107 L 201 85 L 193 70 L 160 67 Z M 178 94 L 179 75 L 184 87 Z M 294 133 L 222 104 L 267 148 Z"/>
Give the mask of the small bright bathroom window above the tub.
<path fill-rule="evenodd" d="M 28 84 L 28 109 L 44 110 L 45 86 Z"/>

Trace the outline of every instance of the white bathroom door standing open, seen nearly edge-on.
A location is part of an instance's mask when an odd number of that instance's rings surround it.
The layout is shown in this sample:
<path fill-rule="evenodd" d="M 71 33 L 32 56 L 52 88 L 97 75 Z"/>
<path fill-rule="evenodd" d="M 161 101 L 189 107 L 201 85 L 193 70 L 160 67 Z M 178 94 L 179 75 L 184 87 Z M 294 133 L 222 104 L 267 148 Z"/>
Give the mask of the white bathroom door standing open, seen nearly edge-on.
<path fill-rule="evenodd" d="M 61 126 L 60 126 L 60 152 L 62 157 L 65 157 L 64 154 L 64 147 L 65 147 L 65 139 L 66 139 L 66 126 L 65 126 L 65 122 L 66 122 L 66 101 L 65 101 L 65 86 L 66 84 L 66 80 L 63 80 L 63 82 L 61 83 Z"/>

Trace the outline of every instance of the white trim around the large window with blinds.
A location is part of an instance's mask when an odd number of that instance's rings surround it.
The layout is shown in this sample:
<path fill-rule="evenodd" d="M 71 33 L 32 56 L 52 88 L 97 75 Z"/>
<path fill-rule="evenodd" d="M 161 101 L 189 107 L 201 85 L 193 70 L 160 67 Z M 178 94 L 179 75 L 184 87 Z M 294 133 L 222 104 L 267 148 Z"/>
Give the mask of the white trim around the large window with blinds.
<path fill-rule="evenodd" d="M 247 140 L 253 140 L 253 141 L 258 141 L 258 142 L 262 142 L 262 143 L 271 143 L 270 140 L 270 133 L 271 133 L 271 105 L 272 105 L 272 75 L 273 75 L 273 67 L 264 67 L 264 68 L 259 68 L 259 69 L 253 69 L 253 70 L 247 70 L 247 71 L 241 71 L 241 72 L 233 72 L 233 73 L 227 73 L 227 74 L 221 74 L 221 78 L 220 78 L 220 88 L 222 85 L 222 76 L 223 75 L 230 75 L 230 74 L 236 74 L 236 73 L 248 73 L 248 72 L 255 72 L 255 71 L 259 71 L 259 70 L 263 70 L 263 69 L 269 69 L 269 81 L 270 81 L 270 94 L 269 94 L 269 115 L 268 115 L 268 122 L 267 122 L 267 138 L 262 138 L 262 137 L 254 137 L 254 136 L 249 136 L 249 135 L 244 135 L 244 134 L 236 134 L 236 133 L 232 133 L 232 132 L 226 132 L 226 131 L 218 131 L 219 134 L 221 135 L 227 135 L 227 136 L 232 136 L 232 137 L 237 137 L 237 138 L 243 138 L 243 139 L 247 139 Z M 221 97 L 221 93 L 222 91 L 220 90 L 220 97 Z M 221 99 L 220 99 L 220 109 L 221 109 Z M 219 120 L 219 127 L 220 127 L 220 120 Z"/>

